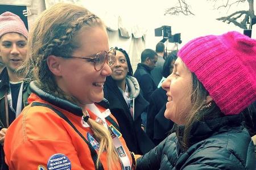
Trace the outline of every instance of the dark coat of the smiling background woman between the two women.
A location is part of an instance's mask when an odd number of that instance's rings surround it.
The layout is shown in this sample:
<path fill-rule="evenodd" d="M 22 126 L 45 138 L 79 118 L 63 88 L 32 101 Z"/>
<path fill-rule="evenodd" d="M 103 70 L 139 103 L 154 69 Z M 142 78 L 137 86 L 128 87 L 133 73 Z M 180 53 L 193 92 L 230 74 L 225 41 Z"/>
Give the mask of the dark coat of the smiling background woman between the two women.
<path fill-rule="evenodd" d="M 154 148 L 154 143 L 141 129 L 141 113 L 148 106 L 148 102 L 142 95 L 139 93 L 134 99 L 134 120 L 121 91 L 111 76 L 106 78 L 104 97 L 109 101 L 109 109 L 119 124 L 129 150 L 135 154 L 146 154 Z"/>

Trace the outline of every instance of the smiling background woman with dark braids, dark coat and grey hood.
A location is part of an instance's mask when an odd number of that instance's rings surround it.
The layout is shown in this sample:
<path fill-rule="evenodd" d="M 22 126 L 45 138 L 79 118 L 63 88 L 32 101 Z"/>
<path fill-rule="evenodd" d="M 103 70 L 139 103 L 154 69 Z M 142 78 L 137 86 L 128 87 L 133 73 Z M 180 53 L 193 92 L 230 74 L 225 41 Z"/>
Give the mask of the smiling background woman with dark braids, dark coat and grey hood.
<path fill-rule="evenodd" d="M 155 147 L 141 128 L 141 114 L 147 109 L 148 102 L 141 95 L 137 79 L 132 76 L 128 54 L 121 48 L 116 49 L 112 75 L 104 84 L 104 97 L 109 101 L 109 109 L 117 119 L 129 150 L 135 154 L 146 154 Z"/>

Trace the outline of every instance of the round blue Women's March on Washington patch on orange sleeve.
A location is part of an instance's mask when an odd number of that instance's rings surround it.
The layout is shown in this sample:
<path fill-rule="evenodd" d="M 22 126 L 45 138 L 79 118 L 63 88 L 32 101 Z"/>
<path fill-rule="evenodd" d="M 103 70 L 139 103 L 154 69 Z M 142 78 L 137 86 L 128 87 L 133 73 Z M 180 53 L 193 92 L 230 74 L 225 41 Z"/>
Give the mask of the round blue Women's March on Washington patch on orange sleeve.
<path fill-rule="evenodd" d="M 71 162 L 68 159 L 68 157 L 64 154 L 54 154 L 49 158 L 47 168 L 49 170 L 71 170 Z"/>

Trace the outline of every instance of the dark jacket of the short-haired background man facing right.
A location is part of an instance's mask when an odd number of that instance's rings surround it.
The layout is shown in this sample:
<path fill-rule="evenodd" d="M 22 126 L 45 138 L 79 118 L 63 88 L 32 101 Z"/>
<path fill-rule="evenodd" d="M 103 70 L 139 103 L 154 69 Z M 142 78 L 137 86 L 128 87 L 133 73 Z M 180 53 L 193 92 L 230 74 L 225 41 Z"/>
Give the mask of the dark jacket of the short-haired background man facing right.
<path fill-rule="evenodd" d="M 150 74 L 150 67 L 144 65 L 143 63 L 138 63 L 137 69 L 133 76 L 138 80 L 139 86 L 142 90 L 142 95 L 144 99 L 150 101 L 150 96 L 152 92 L 156 90 L 155 82 Z"/>

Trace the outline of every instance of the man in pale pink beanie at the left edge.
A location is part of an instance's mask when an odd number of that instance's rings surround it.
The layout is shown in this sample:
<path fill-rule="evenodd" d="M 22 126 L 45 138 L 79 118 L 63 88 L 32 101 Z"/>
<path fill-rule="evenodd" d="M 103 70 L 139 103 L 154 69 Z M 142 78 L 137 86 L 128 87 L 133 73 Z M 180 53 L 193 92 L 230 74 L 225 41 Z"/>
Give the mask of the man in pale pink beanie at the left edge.
<path fill-rule="evenodd" d="M 0 56 L 5 68 L 0 74 L 0 169 L 5 168 L 3 145 L 9 125 L 27 105 L 28 83 L 16 70 L 27 58 L 28 31 L 18 15 L 0 15 Z M 2 65 L 1 65 L 2 66 Z"/>

